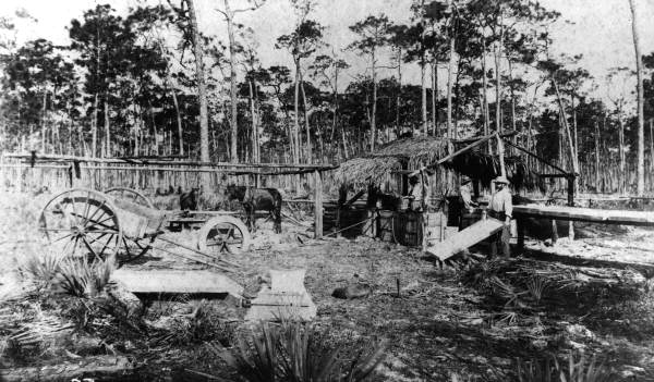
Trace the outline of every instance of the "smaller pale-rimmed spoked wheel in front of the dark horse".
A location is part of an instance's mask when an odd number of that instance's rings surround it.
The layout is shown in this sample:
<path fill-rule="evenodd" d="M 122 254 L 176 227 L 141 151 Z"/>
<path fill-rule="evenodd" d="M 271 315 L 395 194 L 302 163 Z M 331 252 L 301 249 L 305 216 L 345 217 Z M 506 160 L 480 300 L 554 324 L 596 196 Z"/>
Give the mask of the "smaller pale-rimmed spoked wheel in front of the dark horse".
<path fill-rule="evenodd" d="M 245 224 L 233 217 L 209 219 L 198 232 L 198 248 L 211 255 L 241 254 L 250 249 L 252 238 Z"/>

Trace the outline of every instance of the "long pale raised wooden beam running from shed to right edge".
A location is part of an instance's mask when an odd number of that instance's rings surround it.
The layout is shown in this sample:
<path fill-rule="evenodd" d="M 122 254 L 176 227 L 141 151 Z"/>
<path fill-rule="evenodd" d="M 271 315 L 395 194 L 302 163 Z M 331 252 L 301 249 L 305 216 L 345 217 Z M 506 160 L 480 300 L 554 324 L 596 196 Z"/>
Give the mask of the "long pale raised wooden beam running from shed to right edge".
<path fill-rule="evenodd" d="M 574 220 L 590 223 L 654 225 L 654 212 L 601 210 L 565 206 L 514 206 L 514 217 L 536 217 L 554 220 Z"/>

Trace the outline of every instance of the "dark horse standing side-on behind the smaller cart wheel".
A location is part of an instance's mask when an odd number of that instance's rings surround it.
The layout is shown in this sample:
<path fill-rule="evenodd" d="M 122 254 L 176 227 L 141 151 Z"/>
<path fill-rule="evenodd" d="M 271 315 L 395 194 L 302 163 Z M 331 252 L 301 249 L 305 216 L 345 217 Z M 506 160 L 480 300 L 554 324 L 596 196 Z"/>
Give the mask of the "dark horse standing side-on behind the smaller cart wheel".
<path fill-rule="evenodd" d="M 266 210 L 270 212 L 275 232 L 281 233 L 281 194 L 277 188 L 254 188 L 230 184 L 225 192 L 228 200 L 239 200 L 245 209 L 246 224 L 254 231 L 254 212 Z"/>

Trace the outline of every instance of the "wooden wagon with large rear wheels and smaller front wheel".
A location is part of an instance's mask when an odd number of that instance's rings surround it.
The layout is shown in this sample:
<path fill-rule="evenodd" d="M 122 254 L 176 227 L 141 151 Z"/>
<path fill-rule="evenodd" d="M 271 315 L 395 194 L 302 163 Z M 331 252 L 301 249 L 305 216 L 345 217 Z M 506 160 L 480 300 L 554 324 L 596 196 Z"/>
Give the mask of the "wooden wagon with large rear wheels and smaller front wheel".
<path fill-rule="evenodd" d="M 238 254 L 250 248 L 247 227 L 232 214 L 206 211 L 199 217 L 158 210 L 143 194 L 129 188 L 105 193 L 71 188 L 44 207 L 39 230 L 50 242 L 51 250 L 62 255 L 116 258 L 120 262 L 140 258 L 153 248 L 175 255 L 157 246 L 158 238 L 202 256 L 194 259 L 198 262 L 214 264 L 211 259 L 219 259 L 223 252 Z M 185 245 L 167 238 L 164 234 L 174 225 L 196 227 L 195 243 Z"/>

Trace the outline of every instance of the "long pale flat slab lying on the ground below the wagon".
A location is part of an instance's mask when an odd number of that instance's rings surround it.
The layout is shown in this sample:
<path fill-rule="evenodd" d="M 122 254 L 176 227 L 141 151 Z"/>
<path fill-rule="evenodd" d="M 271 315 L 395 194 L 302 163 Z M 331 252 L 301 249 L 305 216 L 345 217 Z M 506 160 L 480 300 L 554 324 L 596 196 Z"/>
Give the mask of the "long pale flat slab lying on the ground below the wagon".
<path fill-rule="evenodd" d="M 207 270 L 147 270 L 118 269 L 111 280 L 122 283 L 132 293 L 209 293 L 240 297 L 243 287 L 225 274 Z"/>

